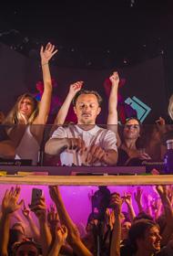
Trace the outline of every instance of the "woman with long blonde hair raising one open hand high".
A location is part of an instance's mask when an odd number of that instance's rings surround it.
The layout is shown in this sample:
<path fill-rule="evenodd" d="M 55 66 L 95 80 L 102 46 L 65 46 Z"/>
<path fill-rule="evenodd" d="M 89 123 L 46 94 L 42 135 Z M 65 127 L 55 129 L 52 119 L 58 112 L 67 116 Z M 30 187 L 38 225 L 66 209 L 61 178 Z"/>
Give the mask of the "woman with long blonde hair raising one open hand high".
<path fill-rule="evenodd" d="M 52 96 L 52 80 L 49 70 L 49 60 L 56 54 L 57 49 L 51 43 L 40 49 L 41 66 L 43 71 L 44 92 L 41 101 L 29 93 L 20 96 L 13 109 L 5 118 L 6 131 L 12 141 L 15 141 L 15 158 L 31 159 L 37 164 L 38 151 L 42 142 L 44 125 L 50 110 Z M 23 125 L 25 124 L 25 125 Z M 9 125 L 9 126 L 8 126 Z M 13 127 L 10 127 L 13 125 Z"/>

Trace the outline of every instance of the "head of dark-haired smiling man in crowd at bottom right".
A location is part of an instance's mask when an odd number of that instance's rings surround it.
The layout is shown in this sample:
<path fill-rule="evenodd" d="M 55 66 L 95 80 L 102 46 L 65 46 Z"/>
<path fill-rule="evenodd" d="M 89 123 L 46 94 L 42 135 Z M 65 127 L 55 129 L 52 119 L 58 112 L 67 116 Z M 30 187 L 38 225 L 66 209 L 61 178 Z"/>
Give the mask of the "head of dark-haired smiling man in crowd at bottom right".
<path fill-rule="evenodd" d="M 159 227 L 152 220 L 137 220 L 129 229 L 128 238 L 134 251 L 143 250 L 154 253 L 160 250 Z"/>

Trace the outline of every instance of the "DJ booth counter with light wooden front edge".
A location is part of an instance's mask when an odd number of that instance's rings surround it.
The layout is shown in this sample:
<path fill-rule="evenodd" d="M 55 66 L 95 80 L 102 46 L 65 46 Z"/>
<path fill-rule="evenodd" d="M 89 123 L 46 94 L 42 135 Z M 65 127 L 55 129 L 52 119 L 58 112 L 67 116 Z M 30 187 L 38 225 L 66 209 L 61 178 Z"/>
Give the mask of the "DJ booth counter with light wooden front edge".
<path fill-rule="evenodd" d="M 172 175 L 152 176 L 145 166 L 0 165 L 0 184 L 139 186 L 173 184 Z"/>

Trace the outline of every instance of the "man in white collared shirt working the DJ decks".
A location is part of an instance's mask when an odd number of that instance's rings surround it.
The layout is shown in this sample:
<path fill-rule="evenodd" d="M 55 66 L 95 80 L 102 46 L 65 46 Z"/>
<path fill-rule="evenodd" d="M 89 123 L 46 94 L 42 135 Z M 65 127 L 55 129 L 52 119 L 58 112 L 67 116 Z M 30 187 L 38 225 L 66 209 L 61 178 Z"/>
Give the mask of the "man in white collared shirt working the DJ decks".
<path fill-rule="evenodd" d="M 116 133 L 96 125 L 101 101 L 97 91 L 78 91 L 73 100 L 77 124 L 58 127 L 46 154 L 60 154 L 62 165 L 116 165 Z"/>

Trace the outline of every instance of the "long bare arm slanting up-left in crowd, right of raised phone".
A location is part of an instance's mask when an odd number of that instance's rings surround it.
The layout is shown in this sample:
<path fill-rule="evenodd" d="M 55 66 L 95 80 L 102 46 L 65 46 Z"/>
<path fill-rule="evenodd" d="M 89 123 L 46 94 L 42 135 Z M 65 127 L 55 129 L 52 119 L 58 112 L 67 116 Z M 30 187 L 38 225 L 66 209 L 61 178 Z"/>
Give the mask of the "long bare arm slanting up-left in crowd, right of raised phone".
<path fill-rule="evenodd" d="M 66 208 L 62 200 L 62 197 L 60 195 L 58 187 L 56 186 L 49 187 L 49 193 L 50 193 L 50 197 L 56 204 L 56 209 L 59 215 L 59 219 L 61 220 L 61 223 L 66 225 L 66 228 L 68 230 L 68 242 L 73 248 L 76 255 L 93 256 L 93 254 L 86 249 L 86 246 L 81 241 L 79 231 L 66 211 Z"/>

